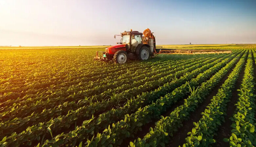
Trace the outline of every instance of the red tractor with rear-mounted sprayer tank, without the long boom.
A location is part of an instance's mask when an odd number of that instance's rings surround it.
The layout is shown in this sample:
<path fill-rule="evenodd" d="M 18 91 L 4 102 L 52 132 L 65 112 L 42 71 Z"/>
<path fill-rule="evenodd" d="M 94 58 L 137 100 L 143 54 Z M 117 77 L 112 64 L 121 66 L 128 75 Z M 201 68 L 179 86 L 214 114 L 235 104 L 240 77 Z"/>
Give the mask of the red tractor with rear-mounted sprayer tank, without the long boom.
<path fill-rule="evenodd" d="M 143 35 L 143 36 L 142 36 Z M 124 31 L 121 35 L 120 42 L 117 45 L 106 48 L 105 52 L 96 52 L 95 60 L 111 61 L 114 63 L 123 64 L 128 59 L 147 60 L 150 56 L 154 56 L 153 52 L 156 49 L 156 40 L 150 29 L 145 29 L 143 34 L 138 31 Z M 102 55 L 99 56 L 99 53 Z"/>

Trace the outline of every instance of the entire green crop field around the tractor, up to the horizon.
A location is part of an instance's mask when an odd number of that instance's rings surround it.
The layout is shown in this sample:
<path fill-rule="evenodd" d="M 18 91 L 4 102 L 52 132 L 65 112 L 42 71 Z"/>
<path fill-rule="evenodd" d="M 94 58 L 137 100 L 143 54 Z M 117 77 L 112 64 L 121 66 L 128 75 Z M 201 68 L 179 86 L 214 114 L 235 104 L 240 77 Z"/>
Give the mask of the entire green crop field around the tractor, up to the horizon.
<path fill-rule="evenodd" d="M 0 147 L 256 146 L 256 45 L 94 61 L 106 46 L 0 47 Z"/>

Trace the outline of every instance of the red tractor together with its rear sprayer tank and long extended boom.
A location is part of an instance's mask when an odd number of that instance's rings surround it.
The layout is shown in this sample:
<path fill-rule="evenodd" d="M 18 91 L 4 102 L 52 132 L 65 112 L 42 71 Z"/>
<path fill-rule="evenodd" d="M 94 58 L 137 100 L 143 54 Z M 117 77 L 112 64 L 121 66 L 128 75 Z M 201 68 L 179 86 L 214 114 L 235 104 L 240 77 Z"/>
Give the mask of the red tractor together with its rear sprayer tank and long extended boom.
<path fill-rule="evenodd" d="M 143 36 L 142 36 L 143 35 Z M 147 60 L 150 56 L 158 54 L 220 54 L 232 53 L 225 50 L 176 50 L 176 49 L 156 49 L 156 39 L 150 29 L 147 28 L 143 34 L 138 31 L 124 31 L 120 42 L 117 45 L 106 48 L 105 52 L 96 52 L 95 60 L 114 61 L 114 63 L 123 64 L 128 59 Z M 99 56 L 99 53 L 101 55 Z"/>

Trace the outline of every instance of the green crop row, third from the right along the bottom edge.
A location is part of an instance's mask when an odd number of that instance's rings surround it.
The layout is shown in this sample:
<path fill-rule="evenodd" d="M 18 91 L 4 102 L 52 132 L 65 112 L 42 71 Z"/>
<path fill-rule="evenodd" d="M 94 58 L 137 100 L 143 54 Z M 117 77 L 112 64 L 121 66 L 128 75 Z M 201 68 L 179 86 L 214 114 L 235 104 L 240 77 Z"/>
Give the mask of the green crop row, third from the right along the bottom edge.
<path fill-rule="evenodd" d="M 234 62 L 234 61 L 233 61 Z M 232 62 L 227 64 L 232 66 Z M 175 108 L 170 115 L 163 117 L 156 123 L 155 128 L 150 128 L 150 132 L 143 139 L 138 138 L 134 142 L 130 142 L 130 146 L 164 146 L 173 133 L 182 127 L 182 122 L 189 118 L 189 114 L 199 106 L 204 98 L 209 94 L 219 81 L 228 72 L 226 68 L 222 68 L 218 73 L 214 74 L 209 80 L 202 83 L 201 86 L 191 92 L 187 99 L 184 99 L 184 104 Z"/>

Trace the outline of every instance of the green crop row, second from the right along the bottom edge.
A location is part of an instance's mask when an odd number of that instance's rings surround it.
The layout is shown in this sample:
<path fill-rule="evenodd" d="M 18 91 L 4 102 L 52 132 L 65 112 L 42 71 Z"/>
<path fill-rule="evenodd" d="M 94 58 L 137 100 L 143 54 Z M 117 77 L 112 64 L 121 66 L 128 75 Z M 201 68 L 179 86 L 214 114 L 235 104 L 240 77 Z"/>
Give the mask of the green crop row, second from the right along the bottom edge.
<path fill-rule="evenodd" d="M 235 87 L 235 83 L 239 77 L 239 73 L 245 64 L 245 55 L 236 64 L 236 67 L 228 75 L 228 78 L 222 84 L 218 93 L 213 96 L 211 103 L 202 112 L 202 118 L 199 122 L 194 122 L 194 127 L 189 135 L 186 137 L 186 143 L 183 147 L 189 146 L 209 146 L 214 143 L 214 133 L 218 130 L 218 126 L 224 121 L 224 114 L 226 111 L 227 103 L 232 96 L 232 90 Z"/>

